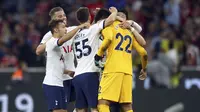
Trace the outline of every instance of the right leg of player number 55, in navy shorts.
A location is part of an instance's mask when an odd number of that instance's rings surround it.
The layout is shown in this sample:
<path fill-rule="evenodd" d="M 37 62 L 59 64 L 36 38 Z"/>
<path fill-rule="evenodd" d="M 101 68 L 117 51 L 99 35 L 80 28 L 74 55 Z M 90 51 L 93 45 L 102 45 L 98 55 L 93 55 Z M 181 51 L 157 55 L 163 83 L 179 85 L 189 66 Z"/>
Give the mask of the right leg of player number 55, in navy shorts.
<path fill-rule="evenodd" d="M 90 72 L 85 73 L 84 81 L 84 94 L 87 98 L 88 108 L 91 109 L 91 112 L 98 112 L 98 88 L 99 88 L 99 73 Z"/>

